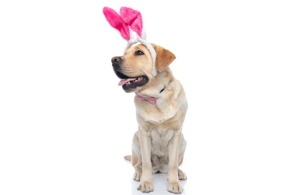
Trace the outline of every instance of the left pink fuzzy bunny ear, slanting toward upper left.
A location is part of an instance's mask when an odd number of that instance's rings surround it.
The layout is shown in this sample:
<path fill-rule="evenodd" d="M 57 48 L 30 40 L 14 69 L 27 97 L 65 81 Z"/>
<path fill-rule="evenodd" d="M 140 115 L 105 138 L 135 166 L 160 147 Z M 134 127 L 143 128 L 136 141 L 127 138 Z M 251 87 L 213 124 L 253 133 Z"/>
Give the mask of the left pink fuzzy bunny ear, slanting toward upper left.
<path fill-rule="evenodd" d="M 102 11 L 111 27 L 117 29 L 124 39 L 129 40 L 131 38 L 130 29 L 122 17 L 110 7 L 104 7 Z"/>

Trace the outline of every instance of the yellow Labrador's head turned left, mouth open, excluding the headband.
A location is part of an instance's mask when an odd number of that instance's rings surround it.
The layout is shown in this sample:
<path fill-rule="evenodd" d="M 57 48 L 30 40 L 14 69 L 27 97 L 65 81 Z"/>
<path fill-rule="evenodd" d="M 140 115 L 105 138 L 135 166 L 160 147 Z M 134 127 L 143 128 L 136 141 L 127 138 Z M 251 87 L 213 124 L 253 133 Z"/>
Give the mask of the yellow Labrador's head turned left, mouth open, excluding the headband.
<path fill-rule="evenodd" d="M 161 46 L 152 44 L 156 52 L 155 67 L 162 72 L 175 59 L 175 55 Z M 146 88 L 153 78 L 152 57 L 145 45 L 129 48 L 124 56 L 111 59 L 113 71 L 121 79 L 119 85 L 125 92 L 135 92 Z"/>

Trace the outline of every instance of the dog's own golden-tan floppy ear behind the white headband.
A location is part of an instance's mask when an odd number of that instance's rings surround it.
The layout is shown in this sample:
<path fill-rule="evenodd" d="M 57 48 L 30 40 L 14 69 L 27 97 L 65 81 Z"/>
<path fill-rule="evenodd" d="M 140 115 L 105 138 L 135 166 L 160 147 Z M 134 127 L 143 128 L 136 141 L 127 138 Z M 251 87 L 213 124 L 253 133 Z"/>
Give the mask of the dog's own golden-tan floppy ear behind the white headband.
<path fill-rule="evenodd" d="M 169 50 L 164 49 L 159 45 L 151 43 L 156 52 L 155 67 L 159 72 L 162 72 L 173 60 L 175 60 L 175 55 Z"/>

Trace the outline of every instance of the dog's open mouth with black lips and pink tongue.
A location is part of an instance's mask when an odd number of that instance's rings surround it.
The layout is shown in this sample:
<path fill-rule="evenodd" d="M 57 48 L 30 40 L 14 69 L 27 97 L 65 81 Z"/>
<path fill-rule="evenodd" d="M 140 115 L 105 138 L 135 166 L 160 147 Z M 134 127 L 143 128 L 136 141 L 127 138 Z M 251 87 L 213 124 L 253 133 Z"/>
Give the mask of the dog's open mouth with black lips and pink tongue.
<path fill-rule="evenodd" d="M 119 86 L 123 86 L 123 89 L 129 89 L 129 88 L 135 88 L 138 86 L 145 85 L 148 82 L 148 78 L 146 76 L 139 76 L 139 77 L 128 77 L 124 74 L 122 74 L 119 71 L 115 71 L 118 78 L 121 78 L 121 81 L 119 82 Z"/>

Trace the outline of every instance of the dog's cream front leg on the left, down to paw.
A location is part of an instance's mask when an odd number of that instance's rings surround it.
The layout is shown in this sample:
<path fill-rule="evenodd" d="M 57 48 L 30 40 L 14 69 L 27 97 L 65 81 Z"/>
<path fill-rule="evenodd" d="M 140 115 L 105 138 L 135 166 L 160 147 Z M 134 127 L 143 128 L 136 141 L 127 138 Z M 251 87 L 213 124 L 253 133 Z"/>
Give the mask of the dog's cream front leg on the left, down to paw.
<path fill-rule="evenodd" d="M 148 193 L 153 191 L 150 131 L 139 127 L 139 142 L 142 154 L 142 177 L 137 190 Z"/>

